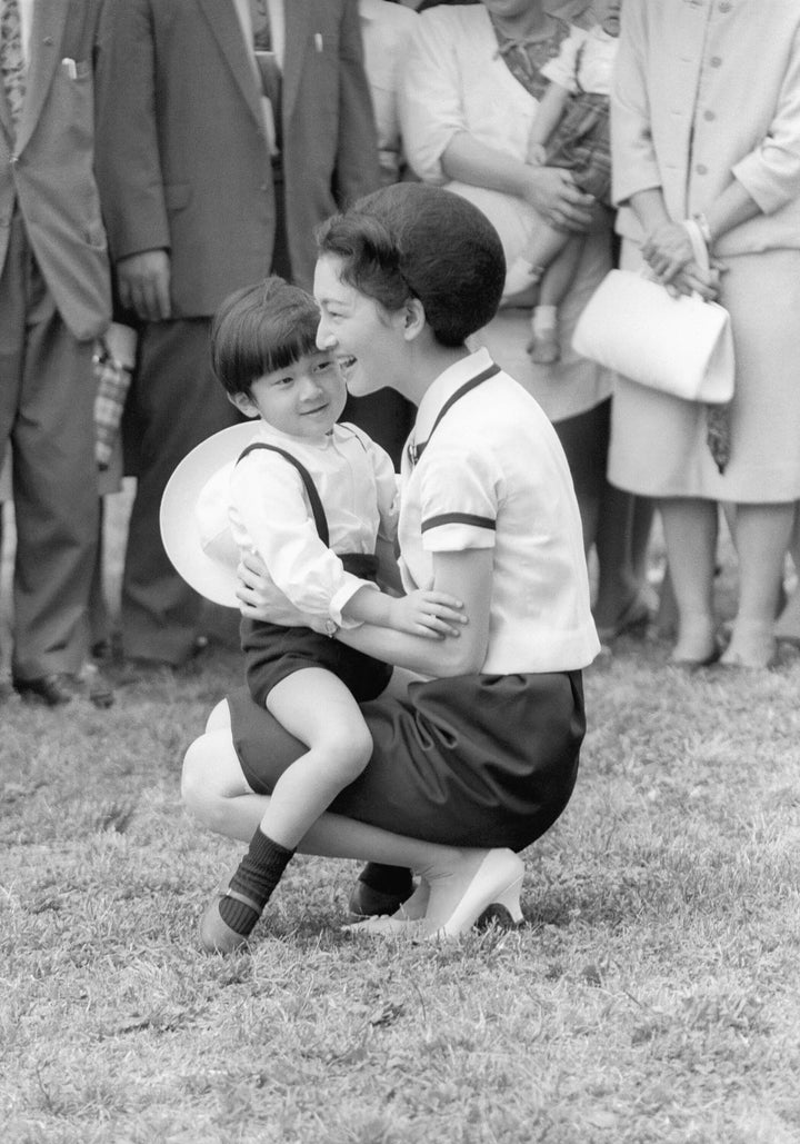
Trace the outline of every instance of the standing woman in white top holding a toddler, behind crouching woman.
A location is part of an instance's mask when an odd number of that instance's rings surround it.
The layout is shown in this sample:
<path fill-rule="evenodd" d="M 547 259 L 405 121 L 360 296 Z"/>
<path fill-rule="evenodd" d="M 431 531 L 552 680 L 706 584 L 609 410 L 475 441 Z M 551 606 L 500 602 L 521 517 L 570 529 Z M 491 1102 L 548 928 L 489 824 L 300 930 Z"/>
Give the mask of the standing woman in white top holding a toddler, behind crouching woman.
<path fill-rule="evenodd" d="M 574 39 L 575 25 L 587 29 L 606 8 L 606 0 L 481 0 L 424 13 L 406 59 L 401 121 L 414 172 L 486 214 L 503 241 L 507 269 L 543 222 L 585 236 L 558 308 L 560 359 L 526 363 L 518 380 L 530 387 L 567 454 L 586 550 L 594 547 L 598 556 L 594 615 L 601 638 L 610 642 L 647 621 L 649 532 L 649 509 L 637 519 L 632 499 L 606 479 L 611 374 L 571 348 L 577 319 L 611 265 L 610 215 L 578 188 L 573 170 L 529 161 L 549 65 Z M 510 276 L 503 304 L 519 307 L 525 295 L 518 292 Z M 527 315 L 522 320 L 527 325 Z M 495 326 L 480 340 L 503 362 L 513 319 Z"/>

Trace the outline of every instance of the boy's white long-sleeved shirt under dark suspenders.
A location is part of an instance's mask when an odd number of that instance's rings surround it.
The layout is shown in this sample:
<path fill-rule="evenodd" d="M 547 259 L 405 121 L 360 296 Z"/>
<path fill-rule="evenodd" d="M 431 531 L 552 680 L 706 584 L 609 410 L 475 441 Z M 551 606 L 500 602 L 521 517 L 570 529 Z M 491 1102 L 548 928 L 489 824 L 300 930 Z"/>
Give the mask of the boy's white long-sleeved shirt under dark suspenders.
<path fill-rule="evenodd" d="M 297 612 L 341 627 L 342 609 L 368 580 L 345 572 L 337 553 L 373 554 L 378 534 L 393 541 L 398 477 L 387 453 L 354 426 L 334 426 L 313 440 L 261 422 L 254 442 L 275 445 L 309 470 L 325 507 L 329 543 L 322 543 L 297 469 L 269 450 L 240 461 L 230 480 L 231 533 L 242 551 L 262 557 L 274 586 L 269 619 L 294 626 Z"/>

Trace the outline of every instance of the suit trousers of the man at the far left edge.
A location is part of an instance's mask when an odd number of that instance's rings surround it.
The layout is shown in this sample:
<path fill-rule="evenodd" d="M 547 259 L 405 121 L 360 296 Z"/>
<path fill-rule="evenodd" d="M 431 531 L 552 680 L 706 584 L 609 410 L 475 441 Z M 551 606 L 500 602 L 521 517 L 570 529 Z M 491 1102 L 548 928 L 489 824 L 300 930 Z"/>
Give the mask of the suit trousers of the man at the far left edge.
<path fill-rule="evenodd" d="M 0 467 L 17 532 L 11 672 L 77 672 L 98 532 L 91 342 L 65 326 L 17 212 L 0 276 Z"/>

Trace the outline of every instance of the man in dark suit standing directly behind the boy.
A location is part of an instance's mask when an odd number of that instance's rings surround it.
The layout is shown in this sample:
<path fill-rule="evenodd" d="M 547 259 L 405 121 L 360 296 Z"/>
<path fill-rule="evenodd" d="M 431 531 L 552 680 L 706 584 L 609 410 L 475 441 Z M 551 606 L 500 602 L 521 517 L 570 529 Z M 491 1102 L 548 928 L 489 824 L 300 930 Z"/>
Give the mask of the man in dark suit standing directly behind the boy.
<path fill-rule="evenodd" d="M 210 317 L 270 272 L 310 287 L 314 225 L 378 185 L 361 56 L 355 0 L 106 2 L 97 176 L 120 301 L 141 324 L 128 657 L 181 665 L 200 634 L 158 514 L 178 461 L 234 419 Z"/>

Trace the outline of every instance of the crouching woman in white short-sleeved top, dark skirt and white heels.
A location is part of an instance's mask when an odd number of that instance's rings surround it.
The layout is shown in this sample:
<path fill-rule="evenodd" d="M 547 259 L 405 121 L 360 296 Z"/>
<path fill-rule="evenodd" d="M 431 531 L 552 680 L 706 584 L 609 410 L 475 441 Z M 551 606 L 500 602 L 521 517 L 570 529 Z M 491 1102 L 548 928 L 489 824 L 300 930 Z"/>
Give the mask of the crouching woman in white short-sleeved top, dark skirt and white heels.
<path fill-rule="evenodd" d="M 505 277 L 485 215 L 400 184 L 330 220 L 319 251 L 318 344 L 357 396 L 391 386 L 418 407 L 401 472 L 403 583 L 462 601 L 467 622 L 439 641 L 370 623 L 335 633 L 417 681 L 362 705 L 371 758 L 298 849 L 411 868 L 421 882 L 401 916 L 365 927 L 455 936 L 493 903 L 521 917 L 514 851 L 549 829 L 575 784 L 581 672 L 599 650 L 581 521 L 544 413 L 465 345 Z M 246 580 L 243 612 L 259 618 L 257 565 Z M 303 749 L 234 692 L 190 747 L 186 802 L 248 840 Z"/>

